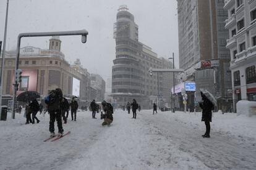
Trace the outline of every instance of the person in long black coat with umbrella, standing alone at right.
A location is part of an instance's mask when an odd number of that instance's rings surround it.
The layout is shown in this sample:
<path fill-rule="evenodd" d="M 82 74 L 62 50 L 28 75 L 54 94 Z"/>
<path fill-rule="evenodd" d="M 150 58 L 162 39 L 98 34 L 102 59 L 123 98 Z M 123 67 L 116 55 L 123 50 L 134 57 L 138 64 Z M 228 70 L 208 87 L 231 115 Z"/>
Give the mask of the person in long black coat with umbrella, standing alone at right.
<path fill-rule="evenodd" d="M 213 110 L 213 103 L 201 92 L 203 103 L 199 103 L 200 108 L 202 108 L 202 121 L 205 122 L 206 132 L 202 137 L 210 137 L 210 122 L 211 122 L 211 110 Z"/>

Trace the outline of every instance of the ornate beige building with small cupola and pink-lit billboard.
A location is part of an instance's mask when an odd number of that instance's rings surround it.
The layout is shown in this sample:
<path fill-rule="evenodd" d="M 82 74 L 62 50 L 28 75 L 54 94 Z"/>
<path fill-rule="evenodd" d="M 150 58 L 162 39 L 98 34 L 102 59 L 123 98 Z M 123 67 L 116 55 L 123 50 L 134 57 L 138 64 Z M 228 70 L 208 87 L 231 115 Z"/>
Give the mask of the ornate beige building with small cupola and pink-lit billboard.
<path fill-rule="evenodd" d="M 2 55 L 1 55 L 2 56 Z M 0 58 L 1 61 L 1 58 Z M 27 46 L 20 49 L 19 68 L 22 69 L 20 94 L 23 91 L 37 91 L 44 97 L 52 89 L 61 88 L 68 97 L 79 96 L 79 100 L 92 100 L 90 97 L 90 73 L 76 60 L 70 65 L 61 52 L 61 40 L 54 36 L 49 40 L 49 49 Z M 12 96 L 15 78 L 15 51 L 6 52 L 2 94 Z M 77 81 L 75 84 L 74 81 Z M 77 86 L 75 88 L 74 86 Z M 102 85 L 104 89 L 105 85 Z M 74 91 L 77 91 L 75 93 Z"/>

